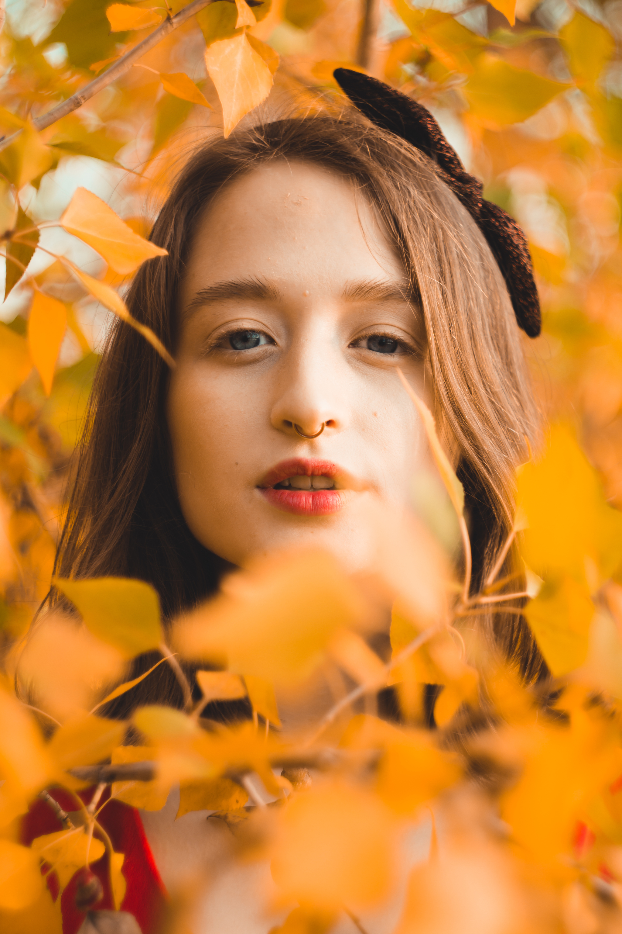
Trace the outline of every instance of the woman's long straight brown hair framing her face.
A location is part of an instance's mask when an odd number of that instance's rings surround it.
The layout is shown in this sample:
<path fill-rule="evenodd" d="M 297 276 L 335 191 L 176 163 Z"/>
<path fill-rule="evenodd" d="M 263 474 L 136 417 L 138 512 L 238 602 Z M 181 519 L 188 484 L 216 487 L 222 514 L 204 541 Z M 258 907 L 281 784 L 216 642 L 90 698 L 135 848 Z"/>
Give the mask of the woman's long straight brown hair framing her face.
<path fill-rule="evenodd" d="M 421 152 L 350 112 L 275 120 L 203 146 L 159 213 L 151 239 L 168 256 L 139 269 L 127 296 L 131 314 L 174 354 L 177 297 L 198 219 L 233 178 L 275 159 L 350 179 L 394 241 L 421 304 L 437 416 L 458 451 L 478 587 L 511 528 L 514 471 L 526 460 L 525 439 L 537 439 L 538 417 L 497 264 Z M 152 347 L 117 321 L 76 453 L 56 573 L 142 578 L 170 618 L 214 591 L 223 562 L 182 516 L 164 417 L 167 377 Z M 491 617 L 490 626 L 528 679 L 542 671 L 520 619 Z"/>

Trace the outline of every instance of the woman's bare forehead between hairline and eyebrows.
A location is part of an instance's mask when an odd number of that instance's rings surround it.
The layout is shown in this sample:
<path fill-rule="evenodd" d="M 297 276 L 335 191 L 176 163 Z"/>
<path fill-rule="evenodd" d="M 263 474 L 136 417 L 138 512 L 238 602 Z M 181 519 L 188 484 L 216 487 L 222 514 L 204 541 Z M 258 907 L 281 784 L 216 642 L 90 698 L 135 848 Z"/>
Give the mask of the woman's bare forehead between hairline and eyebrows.
<path fill-rule="evenodd" d="M 263 163 L 221 191 L 198 224 L 184 301 L 240 276 L 308 287 L 405 277 L 375 210 L 352 183 L 311 163 Z"/>

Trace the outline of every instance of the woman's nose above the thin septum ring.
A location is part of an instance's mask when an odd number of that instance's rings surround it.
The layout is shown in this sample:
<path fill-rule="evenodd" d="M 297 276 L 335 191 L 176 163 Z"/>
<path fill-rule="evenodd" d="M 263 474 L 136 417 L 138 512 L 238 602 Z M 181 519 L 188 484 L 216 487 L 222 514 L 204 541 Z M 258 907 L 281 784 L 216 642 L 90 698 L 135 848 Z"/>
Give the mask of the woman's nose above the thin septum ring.
<path fill-rule="evenodd" d="M 339 391 L 339 361 L 327 351 L 305 341 L 290 351 L 279 374 L 270 421 L 280 432 L 312 439 L 325 429 L 344 426 L 345 387 Z"/>

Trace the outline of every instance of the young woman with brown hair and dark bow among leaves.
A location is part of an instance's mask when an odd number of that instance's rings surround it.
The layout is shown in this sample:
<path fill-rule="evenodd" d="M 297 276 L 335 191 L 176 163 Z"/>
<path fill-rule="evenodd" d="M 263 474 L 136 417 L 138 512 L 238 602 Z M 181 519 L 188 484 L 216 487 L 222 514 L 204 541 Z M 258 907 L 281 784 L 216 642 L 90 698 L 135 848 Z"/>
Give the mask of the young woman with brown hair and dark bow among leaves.
<path fill-rule="evenodd" d="M 435 410 L 463 481 L 473 587 L 490 569 L 514 470 L 538 435 L 518 330 L 539 328 L 524 238 L 482 201 L 424 108 L 366 76 L 337 78 L 367 119 L 352 108 L 239 130 L 174 184 L 152 233 L 168 256 L 141 267 L 127 302 L 176 368 L 117 321 L 77 455 L 62 576 L 141 578 L 171 618 L 272 549 L 321 545 L 365 571 L 366 501 L 409 509 L 428 457 L 397 367 Z M 520 621 L 490 623 L 536 677 Z M 161 666 L 110 714 L 181 703 L 177 691 Z M 172 815 L 145 817 L 165 882 L 199 832 Z"/>

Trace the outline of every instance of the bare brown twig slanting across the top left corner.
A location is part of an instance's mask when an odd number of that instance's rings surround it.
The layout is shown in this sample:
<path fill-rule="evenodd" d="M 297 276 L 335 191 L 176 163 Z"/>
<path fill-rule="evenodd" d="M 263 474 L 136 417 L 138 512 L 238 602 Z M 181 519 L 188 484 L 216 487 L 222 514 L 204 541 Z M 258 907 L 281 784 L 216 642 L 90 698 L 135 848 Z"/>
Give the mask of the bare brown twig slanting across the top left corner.
<path fill-rule="evenodd" d="M 68 97 L 66 101 L 62 101 L 61 104 L 52 107 L 51 110 L 48 110 L 47 114 L 43 114 L 41 117 L 35 117 L 35 120 L 33 120 L 35 130 L 45 130 L 46 127 L 51 126 L 52 123 L 61 120 L 62 117 L 66 117 L 67 114 L 73 113 L 78 107 L 86 104 L 91 97 L 103 91 L 104 88 L 116 78 L 125 75 L 137 59 L 142 58 L 146 52 L 157 46 L 163 38 L 173 32 L 173 29 L 177 29 L 178 26 L 183 25 L 196 13 L 199 13 L 203 7 L 207 7 L 212 2 L 213 0 L 194 0 L 194 3 L 188 4 L 187 7 L 181 9 L 175 16 L 171 17 L 167 14 L 166 19 L 159 25 L 158 29 L 155 29 L 153 33 L 147 35 L 142 42 L 139 42 L 137 46 L 134 46 L 134 48 L 126 52 L 125 55 L 122 55 L 115 64 L 110 65 L 108 70 L 104 71 L 103 75 L 94 78 L 86 87 L 82 88 L 81 91 L 77 91 L 71 97 Z M 21 128 L 10 136 L 0 137 L 0 152 L 6 149 L 7 146 L 10 146 L 20 134 Z"/>

